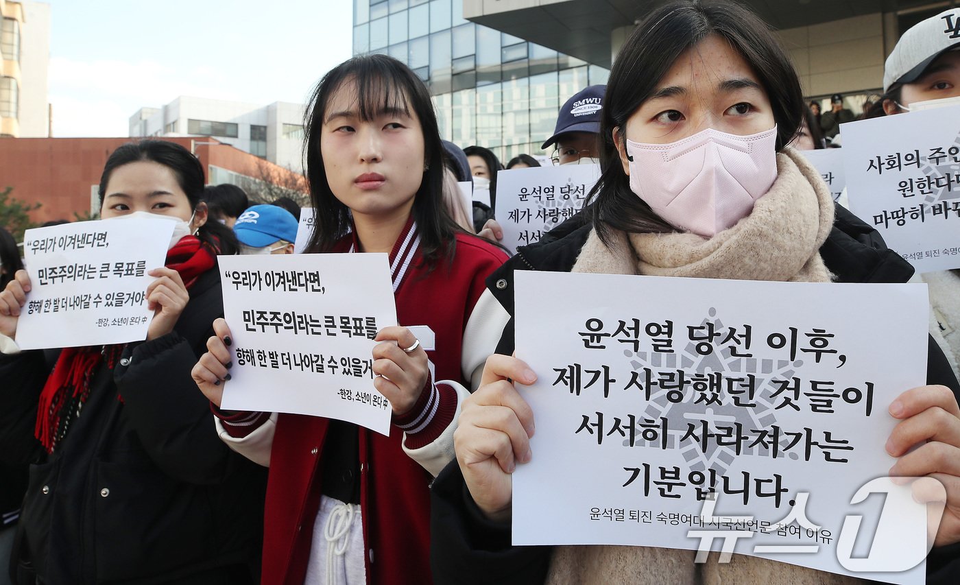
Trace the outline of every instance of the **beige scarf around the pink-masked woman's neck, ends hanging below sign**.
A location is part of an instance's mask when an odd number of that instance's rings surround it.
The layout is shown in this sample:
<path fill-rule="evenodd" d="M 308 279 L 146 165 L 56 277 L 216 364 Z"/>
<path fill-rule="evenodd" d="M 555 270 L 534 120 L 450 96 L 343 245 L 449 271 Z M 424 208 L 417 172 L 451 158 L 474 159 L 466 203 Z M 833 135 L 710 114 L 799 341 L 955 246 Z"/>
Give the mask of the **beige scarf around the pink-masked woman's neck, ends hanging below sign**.
<path fill-rule="evenodd" d="M 833 226 L 833 201 L 820 174 L 792 149 L 777 156 L 777 181 L 749 216 L 710 239 L 692 233 L 612 234 L 611 246 L 590 232 L 572 272 L 739 280 L 827 282 L 820 246 Z M 860 579 L 734 554 L 676 548 L 557 547 L 550 585 L 848 585 Z"/>

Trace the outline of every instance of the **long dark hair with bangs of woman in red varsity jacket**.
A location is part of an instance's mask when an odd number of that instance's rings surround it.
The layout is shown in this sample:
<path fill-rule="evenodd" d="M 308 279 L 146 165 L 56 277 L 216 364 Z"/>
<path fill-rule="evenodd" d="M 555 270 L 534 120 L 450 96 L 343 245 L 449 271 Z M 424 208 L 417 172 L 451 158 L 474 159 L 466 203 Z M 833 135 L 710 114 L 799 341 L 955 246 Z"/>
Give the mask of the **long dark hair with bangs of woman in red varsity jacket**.
<path fill-rule="evenodd" d="M 444 146 L 433 102 L 420 78 L 386 55 L 365 55 L 340 63 L 324 75 L 310 97 L 303 119 L 303 162 L 313 202 L 314 232 L 306 251 L 329 252 L 349 231 L 350 210 L 334 196 L 326 181 L 320 138 L 333 95 L 350 88 L 355 92 L 353 106 L 365 122 L 389 111 L 402 111 L 420 121 L 426 170 L 411 212 L 420 232 L 423 259 L 430 268 L 444 255 L 452 259 L 454 235 L 462 231 L 444 207 Z"/>

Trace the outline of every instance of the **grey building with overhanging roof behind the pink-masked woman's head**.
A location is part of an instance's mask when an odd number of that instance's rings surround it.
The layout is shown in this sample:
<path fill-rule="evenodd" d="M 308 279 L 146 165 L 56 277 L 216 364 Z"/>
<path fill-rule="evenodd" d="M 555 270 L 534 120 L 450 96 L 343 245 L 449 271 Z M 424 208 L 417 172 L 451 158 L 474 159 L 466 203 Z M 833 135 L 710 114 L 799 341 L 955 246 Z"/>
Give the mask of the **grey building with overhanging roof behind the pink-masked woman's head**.
<path fill-rule="evenodd" d="M 357 0 L 362 2 L 363 0 Z M 598 67 L 660 0 L 460 0 L 477 26 L 523 37 Z M 780 32 L 804 94 L 843 94 L 854 113 L 882 93 L 883 63 L 900 35 L 957 0 L 740 0 Z"/>

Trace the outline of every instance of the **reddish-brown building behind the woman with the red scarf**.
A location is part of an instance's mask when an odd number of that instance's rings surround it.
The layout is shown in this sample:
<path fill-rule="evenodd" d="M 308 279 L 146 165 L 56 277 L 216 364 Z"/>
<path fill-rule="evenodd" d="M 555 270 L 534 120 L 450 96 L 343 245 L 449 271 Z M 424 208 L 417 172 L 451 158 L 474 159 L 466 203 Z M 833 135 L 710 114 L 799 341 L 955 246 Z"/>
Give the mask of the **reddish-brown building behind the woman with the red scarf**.
<path fill-rule="evenodd" d="M 237 184 L 255 201 L 292 195 L 305 203 L 301 193 L 306 185 L 298 173 L 210 136 L 162 139 L 196 154 L 209 184 Z M 107 158 L 128 142 L 124 137 L 0 140 L 0 191 L 12 187 L 17 200 L 42 204 L 30 214 L 36 223 L 89 217 L 100 208 L 97 188 Z"/>

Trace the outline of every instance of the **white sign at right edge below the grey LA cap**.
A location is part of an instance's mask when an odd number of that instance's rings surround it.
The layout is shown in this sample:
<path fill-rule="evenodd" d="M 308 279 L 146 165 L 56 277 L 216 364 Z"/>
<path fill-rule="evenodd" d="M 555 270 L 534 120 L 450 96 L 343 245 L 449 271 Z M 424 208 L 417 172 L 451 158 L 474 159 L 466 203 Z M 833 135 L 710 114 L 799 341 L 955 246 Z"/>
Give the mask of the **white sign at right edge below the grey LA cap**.
<path fill-rule="evenodd" d="M 919 272 L 960 267 L 960 106 L 842 132 L 851 211 Z"/>

